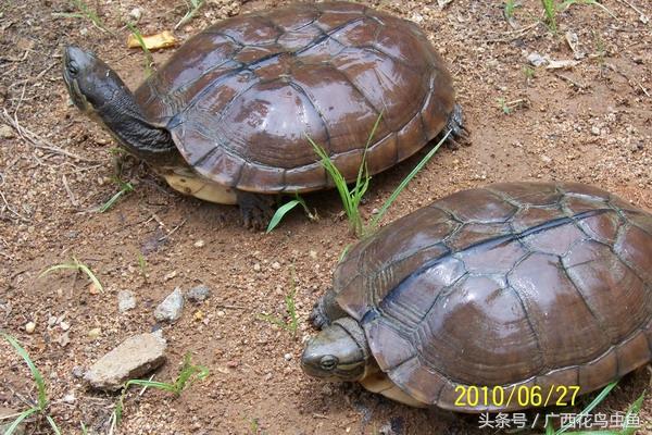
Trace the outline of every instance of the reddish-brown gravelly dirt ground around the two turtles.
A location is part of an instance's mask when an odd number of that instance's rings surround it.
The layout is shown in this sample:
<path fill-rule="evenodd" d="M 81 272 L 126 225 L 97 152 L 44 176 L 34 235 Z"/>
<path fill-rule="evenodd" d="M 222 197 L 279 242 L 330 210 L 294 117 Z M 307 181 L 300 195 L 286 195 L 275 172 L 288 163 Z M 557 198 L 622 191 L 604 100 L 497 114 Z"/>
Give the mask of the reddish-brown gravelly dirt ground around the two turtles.
<path fill-rule="evenodd" d="M 184 40 L 217 20 L 283 3 L 208 1 L 175 35 Z M 514 26 L 498 0 L 453 0 L 443 9 L 435 1 L 364 3 L 413 20 L 428 33 L 450 64 L 472 130 L 472 145 L 442 149 L 384 222 L 462 188 L 521 179 L 591 183 L 652 211 L 652 24 L 635 10 L 652 20 L 648 0 L 605 0 L 615 16 L 597 7 L 572 7 L 559 15 L 557 35 L 536 24 L 542 11 L 535 0 L 515 10 Z M 151 331 L 159 301 L 175 286 L 187 290 L 198 284 L 210 286 L 213 296 L 163 326 L 168 362 L 155 378 L 173 377 L 186 352 L 210 369 L 210 377 L 176 399 L 155 390 L 130 395 L 118 433 L 494 433 L 478 430 L 477 417 L 410 409 L 358 385 L 323 384 L 301 372 L 302 341 L 314 333 L 311 307 L 328 288 L 340 252 L 354 241 L 336 194 L 306 197 L 318 222 L 294 212 L 273 234 L 255 234 L 242 229 L 235 207 L 177 195 L 145 165 L 127 160 L 124 171 L 135 191 L 110 211 L 96 212 L 116 192 L 110 152 L 115 142 L 70 104 L 60 73 L 62 48 L 95 50 L 135 88 L 145 75 L 143 55 L 125 46 L 129 14 L 138 8 L 139 28 L 153 34 L 172 29 L 186 7 L 181 0 L 88 4 L 114 35 L 86 20 L 53 17 L 74 12 L 62 0 L 2 0 L 0 7 L 2 109 L 34 133 L 30 141 L 4 128 L 0 138 L 0 328 L 17 337 L 45 373 L 51 413 L 63 433 L 80 433 L 80 422 L 91 433 L 106 433 L 115 400 L 88 390 L 75 368 L 89 366 L 129 335 Z M 530 53 L 573 59 L 567 32 L 577 35 L 577 51 L 586 54 L 577 65 L 526 67 Z M 156 63 L 171 52 L 156 52 Z M 374 177 L 366 215 L 418 158 Z M 104 293 L 91 291 L 87 278 L 73 272 L 38 278 L 72 256 L 96 272 Z M 285 313 L 292 268 L 296 338 L 258 316 Z M 137 307 L 118 313 L 116 295 L 123 289 L 136 294 Z M 63 331 L 62 320 L 70 330 Z M 25 331 L 28 322 L 36 325 L 32 334 Z M 0 407 L 23 409 L 23 399 L 36 395 L 29 373 L 5 343 L 0 355 Z M 600 410 L 625 411 L 649 386 L 643 368 L 622 381 Z M 639 433 L 651 434 L 650 393 L 641 421 Z M 49 432 L 34 421 L 27 433 Z"/>

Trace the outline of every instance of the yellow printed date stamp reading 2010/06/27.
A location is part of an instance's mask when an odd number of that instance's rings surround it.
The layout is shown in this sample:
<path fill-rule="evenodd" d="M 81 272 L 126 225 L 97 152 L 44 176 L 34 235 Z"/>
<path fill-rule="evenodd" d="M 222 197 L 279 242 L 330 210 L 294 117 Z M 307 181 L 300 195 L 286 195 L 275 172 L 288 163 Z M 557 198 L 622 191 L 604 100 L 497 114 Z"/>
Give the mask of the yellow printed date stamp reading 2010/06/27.
<path fill-rule="evenodd" d="M 578 385 L 513 385 L 510 387 L 457 385 L 456 407 L 539 408 L 575 406 Z"/>

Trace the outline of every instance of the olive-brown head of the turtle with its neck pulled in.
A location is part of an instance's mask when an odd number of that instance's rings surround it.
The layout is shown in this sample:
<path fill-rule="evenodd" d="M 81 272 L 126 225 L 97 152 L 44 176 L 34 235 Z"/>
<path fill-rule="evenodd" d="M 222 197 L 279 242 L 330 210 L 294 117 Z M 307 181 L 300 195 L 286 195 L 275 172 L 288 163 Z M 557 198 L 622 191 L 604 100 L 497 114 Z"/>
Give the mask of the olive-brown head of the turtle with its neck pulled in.
<path fill-rule="evenodd" d="M 326 381 L 360 381 L 372 365 L 364 331 L 352 318 L 342 318 L 311 338 L 301 356 L 301 368 Z"/>

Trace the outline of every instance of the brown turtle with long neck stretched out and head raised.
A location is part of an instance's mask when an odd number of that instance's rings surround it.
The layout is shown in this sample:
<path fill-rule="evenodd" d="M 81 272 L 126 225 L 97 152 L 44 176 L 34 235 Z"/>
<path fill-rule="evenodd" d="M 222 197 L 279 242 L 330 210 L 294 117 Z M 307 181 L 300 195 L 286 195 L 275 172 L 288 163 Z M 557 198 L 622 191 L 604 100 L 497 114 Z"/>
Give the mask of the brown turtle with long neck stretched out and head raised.
<path fill-rule="evenodd" d="M 371 174 L 424 147 L 462 112 L 451 76 L 416 25 L 361 4 L 299 3 L 220 22 L 184 44 L 134 94 L 67 47 L 73 102 L 184 194 L 238 203 L 248 226 L 269 194 L 333 184 L 306 140 L 348 181 L 367 137 Z"/>

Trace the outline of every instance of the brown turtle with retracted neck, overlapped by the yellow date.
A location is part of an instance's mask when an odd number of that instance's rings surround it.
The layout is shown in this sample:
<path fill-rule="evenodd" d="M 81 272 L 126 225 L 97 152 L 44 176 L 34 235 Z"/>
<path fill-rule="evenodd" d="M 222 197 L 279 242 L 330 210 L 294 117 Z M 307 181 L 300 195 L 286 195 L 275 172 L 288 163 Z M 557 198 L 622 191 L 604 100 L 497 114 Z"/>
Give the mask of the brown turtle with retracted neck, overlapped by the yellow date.
<path fill-rule="evenodd" d="M 652 214 L 581 184 L 460 191 L 361 241 L 313 320 L 310 375 L 463 412 L 552 405 L 651 360 Z M 507 403 L 518 388 L 541 401 Z"/>

